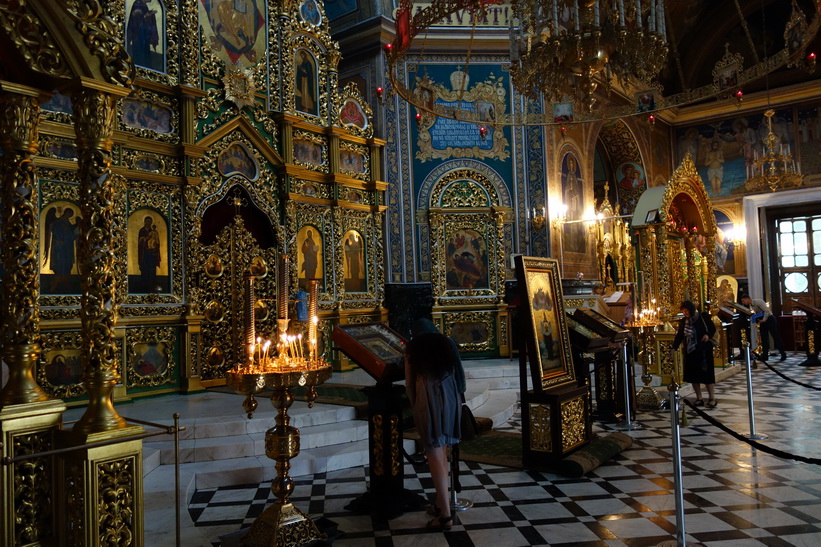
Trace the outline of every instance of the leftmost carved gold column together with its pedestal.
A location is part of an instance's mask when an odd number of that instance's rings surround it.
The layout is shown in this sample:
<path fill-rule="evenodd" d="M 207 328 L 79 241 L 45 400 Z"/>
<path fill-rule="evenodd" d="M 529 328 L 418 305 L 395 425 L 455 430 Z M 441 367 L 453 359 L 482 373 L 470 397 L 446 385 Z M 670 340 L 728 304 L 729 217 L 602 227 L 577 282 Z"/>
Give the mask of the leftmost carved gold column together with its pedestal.
<path fill-rule="evenodd" d="M 37 174 L 42 92 L 0 82 L 2 177 L 2 358 L 9 381 L 0 392 L 0 545 L 53 543 L 54 458 L 30 457 L 54 448 L 65 405 L 35 381 L 41 356 Z M 10 461 L 15 457 L 27 457 Z M 7 460 L 8 458 L 8 460 Z"/>

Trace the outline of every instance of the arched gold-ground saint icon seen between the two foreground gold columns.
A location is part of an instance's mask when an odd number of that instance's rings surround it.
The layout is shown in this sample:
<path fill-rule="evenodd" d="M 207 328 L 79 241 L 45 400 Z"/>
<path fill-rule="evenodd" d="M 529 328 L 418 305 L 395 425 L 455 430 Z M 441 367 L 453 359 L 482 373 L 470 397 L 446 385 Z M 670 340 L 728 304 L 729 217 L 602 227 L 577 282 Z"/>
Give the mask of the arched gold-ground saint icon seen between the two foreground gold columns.
<path fill-rule="evenodd" d="M 40 230 L 40 292 L 80 294 L 80 208 L 68 201 L 48 204 L 40 215 Z"/>

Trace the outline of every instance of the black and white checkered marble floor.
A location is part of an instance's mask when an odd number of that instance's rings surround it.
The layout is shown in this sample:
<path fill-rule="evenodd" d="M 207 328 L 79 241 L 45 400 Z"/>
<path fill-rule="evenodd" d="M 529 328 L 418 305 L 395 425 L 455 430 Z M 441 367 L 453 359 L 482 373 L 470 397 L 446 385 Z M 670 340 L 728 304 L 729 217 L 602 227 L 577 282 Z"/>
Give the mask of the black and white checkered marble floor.
<path fill-rule="evenodd" d="M 785 375 L 821 388 L 821 370 L 801 356 L 771 362 Z M 752 371 L 754 425 L 778 450 L 821 458 L 821 396 L 759 365 Z M 731 430 L 751 430 L 746 374 L 716 386 L 718 407 L 706 410 Z M 688 397 L 694 400 L 694 396 Z M 708 546 L 821 545 L 821 466 L 780 459 L 751 448 L 687 407 L 680 429 L 684 529 L 688 543 Z M 461 462 L 458 513 L 447 533 L 429 531 L 424 508 L 387 520 L 344 507 L 367 487 L 367 468 L 298 477 L 291 501 L 338 526 L 334 546 L 649 546 L 676 538 L 670 414 L 641 412 L 633 446 L 578 479 Z M 520 427 L 517 414 L 505 429 Z M 594 425 L 598 434 L 613 428 Z M 405 466 L 405 487 L 432 499 L 424 466 Z M 249 526 L 273 500 L 270 483 L 199 490 L 188 507 L 213 544 Z M 675 543 L 673 543 L 675 544 Z"/>

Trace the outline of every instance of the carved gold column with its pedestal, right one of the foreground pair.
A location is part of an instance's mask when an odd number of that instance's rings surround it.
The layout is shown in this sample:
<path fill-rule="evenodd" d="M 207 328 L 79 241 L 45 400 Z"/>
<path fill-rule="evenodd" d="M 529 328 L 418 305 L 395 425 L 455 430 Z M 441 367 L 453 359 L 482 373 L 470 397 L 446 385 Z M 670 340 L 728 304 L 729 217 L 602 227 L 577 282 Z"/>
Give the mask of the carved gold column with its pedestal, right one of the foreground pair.
<path fill-rule="evenodd" d="M 115 265 L 115 188 L 111 173 L 117 98 L 128 90 L 84 82 L 72 94 L 80 178 L 80 326 L 88 407 L 61 444 L 58 527 L 63 545 L 143 544 L 144 432 L 119 415 L 112 393 L 120 380 Z M 100 442 L 112 444 L 99 445 Z"/>

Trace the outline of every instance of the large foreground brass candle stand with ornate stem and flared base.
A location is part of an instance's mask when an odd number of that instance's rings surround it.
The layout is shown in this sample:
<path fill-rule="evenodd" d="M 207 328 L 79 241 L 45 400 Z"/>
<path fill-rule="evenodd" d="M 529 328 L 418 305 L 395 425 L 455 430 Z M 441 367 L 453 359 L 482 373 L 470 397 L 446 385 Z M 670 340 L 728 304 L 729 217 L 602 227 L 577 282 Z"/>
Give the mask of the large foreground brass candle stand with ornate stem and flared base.
<path fill-rule="evenodd" d="M 245 395 L 243 408 L 250 418 L 257 407 L 255 395 L 272 389 L 271 404 L 277 409 L 275 426 L 265 432 L 265 455 L 276 462 L 277 475 L 271 482 L 276 501 L 260 514 L 242 538 L 249 547 L 298 546 L 325 540 L 325 534 L 302 511 L 288 501 L 294 481 L 288 475 L 291 460 L 299 455 L 299 429 L 290 424 L 288 408 L 294 402 L 293 388 L 307 387 L 308 405 L 316 399 L 316 386 L 331 377 L 331 365 L 319 359 L 287 355 L 264 359 L 261 364 L 239 366 L 226 374 L 226 382 Z"/>

